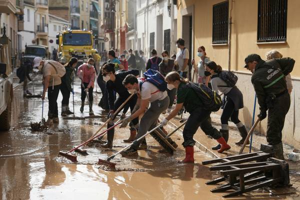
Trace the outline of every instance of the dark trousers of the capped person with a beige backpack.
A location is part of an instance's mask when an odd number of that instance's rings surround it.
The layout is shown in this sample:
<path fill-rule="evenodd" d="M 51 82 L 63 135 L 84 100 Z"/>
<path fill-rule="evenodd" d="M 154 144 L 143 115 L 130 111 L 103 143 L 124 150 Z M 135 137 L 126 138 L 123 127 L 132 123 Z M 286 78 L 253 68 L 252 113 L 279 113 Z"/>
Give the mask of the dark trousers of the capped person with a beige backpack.
<path fill-rule="evenodd" d="M 54 85 L 54 87 L 48 87 L 48 118 L 58 117 L 58 108 L 57 108 L 57 97 L 59 93 L 60 85 Z"/>

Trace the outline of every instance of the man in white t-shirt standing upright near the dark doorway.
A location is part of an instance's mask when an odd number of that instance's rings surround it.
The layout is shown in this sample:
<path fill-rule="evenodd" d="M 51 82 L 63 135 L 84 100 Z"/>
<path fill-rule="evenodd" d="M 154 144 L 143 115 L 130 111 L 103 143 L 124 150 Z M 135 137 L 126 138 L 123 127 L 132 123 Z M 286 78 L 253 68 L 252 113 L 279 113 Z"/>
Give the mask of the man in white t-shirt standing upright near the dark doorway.
<path fill-rule="evenodd" d="M 176 54 L 175 62 L 179 67 L 178 73 L 181 77 L 186 78 L 187 77 L 187 71 L 188 71 L 188 59 L 189 59 L 189 53 L 188 49 L 184 47 L 184 39 L 179 38 L 176 41 L 176 45 L 179 48 L 179 51 Z"/>

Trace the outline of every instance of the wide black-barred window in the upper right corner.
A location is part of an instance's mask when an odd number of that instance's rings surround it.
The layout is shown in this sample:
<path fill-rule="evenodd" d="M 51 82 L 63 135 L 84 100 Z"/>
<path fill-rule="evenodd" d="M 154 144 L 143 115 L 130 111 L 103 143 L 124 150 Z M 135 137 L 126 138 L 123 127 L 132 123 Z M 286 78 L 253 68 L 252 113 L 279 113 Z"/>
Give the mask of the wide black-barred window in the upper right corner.
<path fill-rule="evenodd" d="M 287 0 L 258 0 L 257 42 L 286 41 Z"/>

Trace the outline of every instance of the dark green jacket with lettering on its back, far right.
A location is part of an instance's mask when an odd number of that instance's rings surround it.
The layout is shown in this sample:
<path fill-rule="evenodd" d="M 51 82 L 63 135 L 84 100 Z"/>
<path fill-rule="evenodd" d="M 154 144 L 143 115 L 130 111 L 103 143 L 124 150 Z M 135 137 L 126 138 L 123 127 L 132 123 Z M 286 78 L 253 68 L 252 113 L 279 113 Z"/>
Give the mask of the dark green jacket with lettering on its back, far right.
<path fill-rule="evenodd" d="M 286 90 L 285 75 L 293 69 L 295 60 L 286 57 L 268 61 L 260 60 L 254 70 L 251 82 L 255 89 L 260 110 L 267 110 L 267 96 Z"/>

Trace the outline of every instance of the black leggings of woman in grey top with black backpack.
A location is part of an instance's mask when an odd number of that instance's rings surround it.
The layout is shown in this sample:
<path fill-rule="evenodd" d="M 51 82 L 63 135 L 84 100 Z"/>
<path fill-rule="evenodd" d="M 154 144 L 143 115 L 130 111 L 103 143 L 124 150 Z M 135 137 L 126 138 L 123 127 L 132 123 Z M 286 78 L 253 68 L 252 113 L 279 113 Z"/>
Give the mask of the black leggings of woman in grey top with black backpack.
<path fill-rule="evenodd" d="M 238 119 L 238 110 L 235 110 L 233 101 L 231 100 L 231 98 L 226 97 L 223 112 L 221 115 L 221 123 L 228 124 L 229 118 L 235 124 L 240 122 L 240 120 Z"/>

